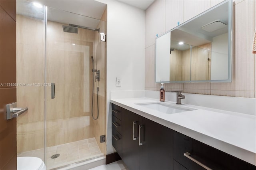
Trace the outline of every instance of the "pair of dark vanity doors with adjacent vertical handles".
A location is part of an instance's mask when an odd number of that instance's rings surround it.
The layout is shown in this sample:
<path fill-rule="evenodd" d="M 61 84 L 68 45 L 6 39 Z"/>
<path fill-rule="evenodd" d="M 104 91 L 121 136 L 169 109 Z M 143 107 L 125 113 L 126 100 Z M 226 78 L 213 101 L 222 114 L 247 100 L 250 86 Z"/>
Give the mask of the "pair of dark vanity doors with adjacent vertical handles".
<path fill-rule="evenodd" d="M 172 130 L 122 109 L 122 160 L 130 170 L 172 170 Z"/>

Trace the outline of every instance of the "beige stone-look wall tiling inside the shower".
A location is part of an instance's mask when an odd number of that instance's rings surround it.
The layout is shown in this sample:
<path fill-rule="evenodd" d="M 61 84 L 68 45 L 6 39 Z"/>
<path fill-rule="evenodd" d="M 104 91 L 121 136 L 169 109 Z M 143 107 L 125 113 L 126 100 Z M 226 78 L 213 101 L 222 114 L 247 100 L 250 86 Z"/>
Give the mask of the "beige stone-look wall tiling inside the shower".
<path fill-rule="evenodd" d="M 106 14 L 104 15 L 106 17 Z M 90 56 L 96 57 L 96 53 L 102 55 L 105 51 L 96 51 L 94 31 L 79 29 L 78 34 L 69 34 L 63 32 L 62 25 L 50 21 L 47 25 L 46 82 L 56 83 L 55 99 L 51 99 L 51 87 L 46 87 L 47 146 L 92 138 L 95 135 L 94 123 L 89 116 L 92 97 L 90 93 L 92 84 L 88 87 L 88 81 L 92 83 Z M 44 22 L 17 15 L 17 27 L 19 28 L 17 82 L 44 83 Z M 98 60 L 106 61 L 105 57 Z M 98 65 L 102 76 L 101 83 L 98 84 L 102 96 L 106 93 L 103 83 L 106 81 L 105 63 L 102 66 Z M 88 74 L 87 77 L 85 74 Z M 104 87 L 101 87 L 102 83 Z M 85 99 L 84 95 L 90 97 Z M 18 153 L 43 148 L 44 102 L 42 101 L 44 101 L 44 87 L 17 88 L 18 105 L 29 108 L 26 114 L 17 119 Z M 106 102 L 101 101 L 101 103 L 104 103 L 105 107 Z M 105 129 L 103 123 L 102 127 Z M 105 149 L 102 150 L 105 152 Z"/>

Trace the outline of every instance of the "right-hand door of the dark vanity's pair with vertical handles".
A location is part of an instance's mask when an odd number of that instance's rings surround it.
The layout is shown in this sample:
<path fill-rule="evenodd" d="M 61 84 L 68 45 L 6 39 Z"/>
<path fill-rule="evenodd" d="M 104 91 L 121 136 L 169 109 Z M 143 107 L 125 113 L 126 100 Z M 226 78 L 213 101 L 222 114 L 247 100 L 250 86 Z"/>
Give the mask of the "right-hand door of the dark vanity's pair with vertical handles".
<path fill-rule="evenodd" d="M 140 117 L 140 170 L 172 170 L 172 130 Z"/>

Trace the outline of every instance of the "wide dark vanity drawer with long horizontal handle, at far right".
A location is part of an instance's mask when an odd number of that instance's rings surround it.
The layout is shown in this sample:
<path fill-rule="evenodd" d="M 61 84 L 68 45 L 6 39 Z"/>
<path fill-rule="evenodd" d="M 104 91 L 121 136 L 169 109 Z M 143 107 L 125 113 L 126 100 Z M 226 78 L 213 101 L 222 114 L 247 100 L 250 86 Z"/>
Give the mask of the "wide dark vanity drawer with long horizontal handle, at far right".
<path fill-rule="evenodd" d="M 205 170 L 203 166 L 213 170 L 256 170 L 252 164 L 176 131 L 173 158 L 188 170 Z"/>

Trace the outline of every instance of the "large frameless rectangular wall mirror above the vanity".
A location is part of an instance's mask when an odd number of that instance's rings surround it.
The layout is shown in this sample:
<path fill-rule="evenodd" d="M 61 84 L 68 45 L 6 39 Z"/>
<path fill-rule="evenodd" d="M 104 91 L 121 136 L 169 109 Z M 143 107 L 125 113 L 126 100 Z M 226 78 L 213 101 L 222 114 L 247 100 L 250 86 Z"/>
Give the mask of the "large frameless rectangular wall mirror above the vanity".
<path fill-rule="evenodd" d="M 156 38 L 156 83 L 231 82 L 232 0 Z"/>

